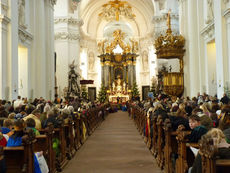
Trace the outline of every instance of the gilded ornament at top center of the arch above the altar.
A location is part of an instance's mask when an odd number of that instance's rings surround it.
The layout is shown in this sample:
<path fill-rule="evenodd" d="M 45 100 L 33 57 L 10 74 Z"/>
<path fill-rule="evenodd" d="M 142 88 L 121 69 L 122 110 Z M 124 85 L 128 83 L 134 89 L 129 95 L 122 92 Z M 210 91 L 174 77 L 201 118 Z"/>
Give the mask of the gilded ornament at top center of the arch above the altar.
<path fill-rule="evenodd" d="M 136 17 L 132 12 L 132 7 L 126 1 L 109 1 L 103 5 L 102 12 L 99 14 L 100 18 L 103 18 L 107 21 L 119 21 L 120 16 L 124 16 L 128 19 L 134 19 Z"/>

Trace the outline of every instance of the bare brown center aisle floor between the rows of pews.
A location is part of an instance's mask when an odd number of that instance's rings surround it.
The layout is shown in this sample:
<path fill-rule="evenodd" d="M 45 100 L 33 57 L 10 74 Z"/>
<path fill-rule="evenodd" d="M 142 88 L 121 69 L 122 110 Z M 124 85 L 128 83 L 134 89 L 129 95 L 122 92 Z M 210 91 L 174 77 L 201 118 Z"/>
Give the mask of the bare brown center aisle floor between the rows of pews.
<path fill-rule="evenodd" d="M 160 173 L 127 112 L 109 114 L 64 173 Z"/>

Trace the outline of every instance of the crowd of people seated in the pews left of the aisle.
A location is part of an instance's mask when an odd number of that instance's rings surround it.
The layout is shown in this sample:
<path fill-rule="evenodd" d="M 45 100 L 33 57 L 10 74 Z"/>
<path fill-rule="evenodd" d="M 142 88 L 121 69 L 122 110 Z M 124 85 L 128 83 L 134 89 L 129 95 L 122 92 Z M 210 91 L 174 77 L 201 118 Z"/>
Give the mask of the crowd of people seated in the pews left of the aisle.
<path fill-rule="evenodd" d="M 75 126 L 81 126 L 82 138 L 86 137 L 86 133 L 90 126 L 90 109 L 94 109 L 102 106 L 99 102 L 91 103 L 85 100 L 70 99 L 69 102 L 62 100 L 55 100 L 54 102 L 46 101 L 42 97 L 35 99 L 33 102 L 28 102 L 27 99 L 21 99 L 18 96 L 17 100 L 13 102 L 0 100 L 0 172 L 7 172 L 7 163 L 4 159 L 4 151 L 2 147 L 19 147 L 23 145 L 24 136 L 28 134 L 36 137 L 41 136 L 40 131 L 43 133 L 44 129 L 50 124 L 54 128 L 60 127 L 62 124 L 68 124 L 68 122 L 75 121 L 83 115 L 81 124 Z M 104 111 L 98 112 L 99 117 L 104 119 Z M 86 119 L 86 120 L 85 120 Z M 76 122 L 76 121 L 75 121 Z M 95 123 L 93 123 L 95 125 Z M 92 126 L 93 126 L 92 125 Z M 78 133 L 73 132 L 73 136 L 77 136 Z M 64 132 L 65 133 L 65 132 Z M 80 133 L 80 132 L 79 132 Z M 82 139 L 84 140 L 84 139 Z M 67 141 L 68 142 L 68 141 Z M 55 151 L 56 157 L 60 153 L 60 141 L 57 138 L 52 139 L 52 148 Z M 82 143 L 82 141 L 81 141 Z M 34 153 L 34 171 L 35 173 L 48 172 L 47 164 L 42 160 L 43 151 Z"/>

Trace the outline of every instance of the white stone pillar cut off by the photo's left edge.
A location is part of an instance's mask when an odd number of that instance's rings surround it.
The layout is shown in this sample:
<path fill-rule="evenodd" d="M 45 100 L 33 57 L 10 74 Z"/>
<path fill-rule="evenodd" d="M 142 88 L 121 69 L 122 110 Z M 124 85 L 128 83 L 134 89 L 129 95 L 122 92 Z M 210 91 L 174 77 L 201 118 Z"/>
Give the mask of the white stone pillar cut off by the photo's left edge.
<path fill-rule="evenodd" d="M 0 98 L 9 99 L 9 88 L 7 87 L 7 27 L 10 19 L 7 17 L 7 1 L 0 1 Z"/>

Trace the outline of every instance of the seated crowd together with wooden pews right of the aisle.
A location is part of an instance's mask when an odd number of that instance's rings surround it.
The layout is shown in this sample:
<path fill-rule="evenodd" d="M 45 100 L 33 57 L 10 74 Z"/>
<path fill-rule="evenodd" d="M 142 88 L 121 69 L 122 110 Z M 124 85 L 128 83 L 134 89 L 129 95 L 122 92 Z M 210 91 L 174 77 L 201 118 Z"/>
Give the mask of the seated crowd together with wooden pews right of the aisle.
<path fill-rule="evenodd" d="M 205 168 L 202 168 L 201 156 L 207 156 L 207 154 L 202 153 L 207 151 L 208 142 L 214 148 L 220 148 L 218 152 L 215 152 L 215 158 L 230 159 L 230 99 L 226 94 L 220 100 L 205 93 L 203 95 L 198 93 L 197 97 L 192 99 L 189 97 L 171 98 L 166 94 L 160 94 L 154 100 L 131 101 L 128 111 L 153 155 L 157 157 L 158 165 L 163 169 L 163 167 L 167 167 L 164 164 L 173 163 L 170 167 L 172 170 L 165 172 L 204 172 Z M 158 128 L 161 121 L 162 131 Z M 165 129 L 167 128 L 165 125 L 167 123 L 170 123 L 172 131 L 170 140 L 173 139 L 173 135 L 177 140 L 174 144 L 170 143 L 173 146 L 170 146 L 169 156 L 167 156 L 168 149 L 166 147 L 168 139 L 166 139 L 167 132 Z M 180 135 L 182 131 L 184 131 L 183 135 Z M 214 141 L 210 143 L 210 139 Z M 192 162 L 187 161 L 186 165 L 180 169 L 177 163 L 183 164 L 183 159 L 188 158 L 188 156 L 181 155 L 184 153 L 189 155 L 189 152 L 192 153 L 191 148 L 193 148 L 188 147 L 185 149 L 187 151 L 180 153 L 183 142 L 185 148 L 189 144 L 196 146 L 198 154 L 194 152 Z M 176 149 L 174 150 L 174 148 Z M 161 153 L 164 156 L 161 156 Z M 168 163 L 166 163 L 167 161 Z M 230 162 L 227 166 L 230 167 Z"/>

